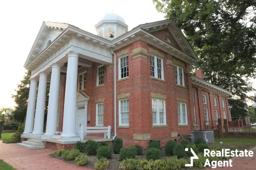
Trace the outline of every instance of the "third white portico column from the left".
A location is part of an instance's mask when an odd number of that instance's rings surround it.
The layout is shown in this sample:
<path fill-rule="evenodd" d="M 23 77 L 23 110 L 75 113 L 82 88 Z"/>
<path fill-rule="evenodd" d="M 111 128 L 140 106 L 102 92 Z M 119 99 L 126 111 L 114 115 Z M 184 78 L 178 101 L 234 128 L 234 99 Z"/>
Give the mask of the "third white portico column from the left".
<path fill-rule="evenodd" d="M 49 93 L 49 104 L 47 113 L 46 132 L 44 136 L 51 138 L 57 131 L 58 121 L 58 94 L 60 88 L 61 65 L 52 64 L 52 76 Z"/>

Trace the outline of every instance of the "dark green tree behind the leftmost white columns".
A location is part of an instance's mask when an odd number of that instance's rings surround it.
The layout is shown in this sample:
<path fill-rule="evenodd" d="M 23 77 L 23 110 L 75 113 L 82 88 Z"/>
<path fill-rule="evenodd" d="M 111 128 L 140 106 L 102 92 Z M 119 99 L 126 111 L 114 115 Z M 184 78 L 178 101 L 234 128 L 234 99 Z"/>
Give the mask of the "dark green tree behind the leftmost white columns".
<path fill-rule="evenodd" d="M 15 103 L 17 104 L 17 106 L 15 106 L 15 111 L 12 112 L 12 120 L 20 123 L 23 123 L 26 120 L 26 110 L 29 99 L 30 76 L 31 71 L 27 71 L 25 76 L 23 77 L 23 80 L 20 81 L 20 84 L 18 84 L 17 89 L 15 90 L 16 94 L 12 95 L 12 98 L 14 98 Z M 48 101 L 49 83 L 47 84 L 45 114 L 47 114 Z M 47 115 L 45 115 L 45 117 L 47 117 Z M 44 121 L 44 123 L 46 124 L 46 121 Z"/>

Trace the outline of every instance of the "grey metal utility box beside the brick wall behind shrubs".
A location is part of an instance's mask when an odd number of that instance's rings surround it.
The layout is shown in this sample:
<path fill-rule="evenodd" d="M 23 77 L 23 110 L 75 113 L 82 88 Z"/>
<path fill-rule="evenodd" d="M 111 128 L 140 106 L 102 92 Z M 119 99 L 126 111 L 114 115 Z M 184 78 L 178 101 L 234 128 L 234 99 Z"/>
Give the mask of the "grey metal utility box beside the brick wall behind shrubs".
<path fill-rule="evenodd" d="M 209 144 L 214 142 L 214 132 L 213 131 L 195 131 L 192 132 L 192 142 L 194 143 L 196 139 L 203 138 L 204 141 Z"/>

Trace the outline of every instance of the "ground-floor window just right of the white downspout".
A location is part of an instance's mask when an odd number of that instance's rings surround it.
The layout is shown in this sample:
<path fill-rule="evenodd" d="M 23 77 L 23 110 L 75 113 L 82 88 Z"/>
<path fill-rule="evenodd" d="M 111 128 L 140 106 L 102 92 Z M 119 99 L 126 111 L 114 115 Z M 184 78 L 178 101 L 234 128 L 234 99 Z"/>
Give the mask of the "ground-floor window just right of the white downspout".
<path fill-rule="evenodd" d="M 129 99 L 119 100 L 119 126 L 129 126 Z"/>

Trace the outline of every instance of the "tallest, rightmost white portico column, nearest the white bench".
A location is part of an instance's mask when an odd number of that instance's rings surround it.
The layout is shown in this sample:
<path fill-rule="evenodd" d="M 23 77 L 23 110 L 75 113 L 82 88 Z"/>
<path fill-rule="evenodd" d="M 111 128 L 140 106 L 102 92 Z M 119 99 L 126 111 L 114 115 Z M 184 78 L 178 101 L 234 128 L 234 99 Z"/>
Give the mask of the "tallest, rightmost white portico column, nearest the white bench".
<path fill-rule="evenodd" d="M 66 92 L 64 101 L 63 132 L 61 138 L 74 138 L 76 135 L 76 90 L 78 56 L 76 52 L 68 53 Z"/>

